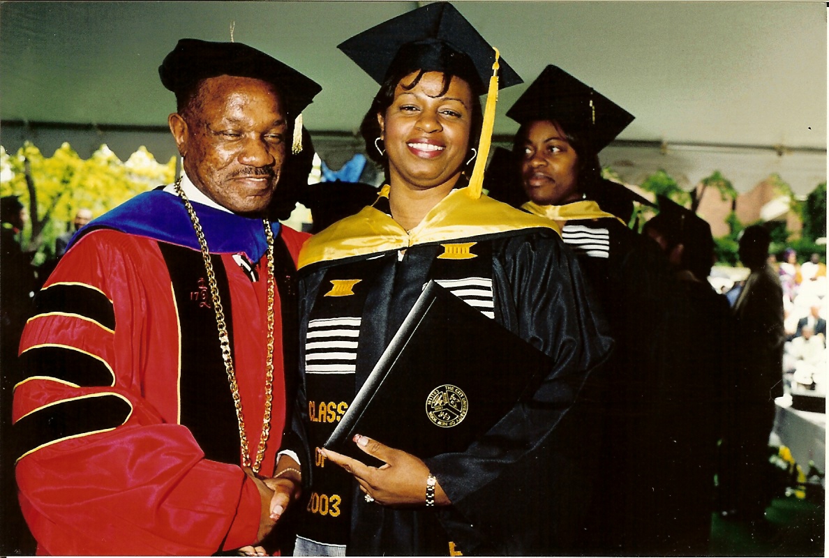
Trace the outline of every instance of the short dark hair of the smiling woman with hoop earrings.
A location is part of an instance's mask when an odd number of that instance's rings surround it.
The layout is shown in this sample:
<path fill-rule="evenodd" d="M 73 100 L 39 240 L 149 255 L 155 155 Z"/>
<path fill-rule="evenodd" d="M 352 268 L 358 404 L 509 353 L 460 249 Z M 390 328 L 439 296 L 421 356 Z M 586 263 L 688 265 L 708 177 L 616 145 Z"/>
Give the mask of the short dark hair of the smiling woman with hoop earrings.
<path fill-rule="evenodd" d="M 425 73 L 429 70 L 419 70 L 418 75 L 414 77 L 414 80 L 408 85 L 401 85 L 405 90 L 414 89 L 420 82 L 420 79 L 423 77 Z M 385 79 L 383 85 L 381 85 L 380 90 L 377 91 L 377 95 L 374 96 L 374 100 L 371 101 L 371 107 L 366 112 L 366 115 L 362 119 L 362 123 L 360 124 L 360 133 L 363 137 L 363 141 L 366 142 L 366 155 L 372 161 L 383 167 L 385 171 L 385 178 L 388 181 L 389 178 L 389 158 L 377 150 L 375 146 L 376 138 L 380 137 L 381 129 L 380 123 L 377 122 L 377 114 L 385 115 L 385 111 L 391 106 L 392 103 L 395 102 L 395 90 L 397 89 L 397 85 L 400 84 L 400 81 L 405 78 L 406 75 L 409 75 L 411 72 L 408 70 L 399 70 L 397 72 L 392 72 L 389 77 Z M 461 72 L 458 71 L 454 74 L 444 73 L 444 88 L 440 91 L 438 95 L 445 95 L 446 91 L 449 89 L 449 85 L 452 82 L 453 78 L 458 78 L 460 80 L 466 81 L 468 84 L 474 83 L 473 76 L 464 76 L 460 75 Z M 472 86 L 470 85 L 470 88 Z M 469 129 L 469 145 L 468 147 L 473 147 L 478 145 L 478 138 L 481 136 L 481 126 L 483 124 L 483 110 L 481 109 L 481 99 L 475 95 L 473 91 L 472 95 L 472 125 Z"/>

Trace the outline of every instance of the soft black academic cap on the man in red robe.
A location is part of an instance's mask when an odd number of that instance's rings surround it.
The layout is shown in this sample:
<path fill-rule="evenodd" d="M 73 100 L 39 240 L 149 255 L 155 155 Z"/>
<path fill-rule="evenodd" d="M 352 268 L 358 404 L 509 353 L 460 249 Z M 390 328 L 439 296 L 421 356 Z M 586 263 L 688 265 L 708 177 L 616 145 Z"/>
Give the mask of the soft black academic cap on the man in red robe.
<path fill-rule="evenodd" d="M 168 90 L 178 94 L 199 80 L 238 75 L 273 83 L 284 98 L 287 113 L 296 118 L 322 87 L 292 67 L 240 42 L 181 39 L 158 66 Z"/>

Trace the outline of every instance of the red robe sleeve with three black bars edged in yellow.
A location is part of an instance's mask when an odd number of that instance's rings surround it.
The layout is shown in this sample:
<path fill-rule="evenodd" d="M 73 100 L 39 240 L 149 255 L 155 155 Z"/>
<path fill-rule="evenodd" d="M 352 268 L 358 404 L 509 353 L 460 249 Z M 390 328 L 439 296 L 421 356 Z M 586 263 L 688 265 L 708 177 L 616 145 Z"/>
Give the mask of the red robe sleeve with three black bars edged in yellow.
<path fill-rule="evenodd" d="M 13 405 L 20 502 L 38 553 L 211 555 L 253 543 L 255 485 L 240 466 L 204 459 L 177 424 L 177 311 L 156 242 L 92 232 L 39 296 L 45 310 L 20 351 L 24 365 L 41 365 L 17 383 Z M 243 397 L 261 390 L 258 376 L 237 376 Z M 284 420 L 274 414 L 264 473 Z M 261 416 L 246 415 L 248 439 L 259 439 Z"/>

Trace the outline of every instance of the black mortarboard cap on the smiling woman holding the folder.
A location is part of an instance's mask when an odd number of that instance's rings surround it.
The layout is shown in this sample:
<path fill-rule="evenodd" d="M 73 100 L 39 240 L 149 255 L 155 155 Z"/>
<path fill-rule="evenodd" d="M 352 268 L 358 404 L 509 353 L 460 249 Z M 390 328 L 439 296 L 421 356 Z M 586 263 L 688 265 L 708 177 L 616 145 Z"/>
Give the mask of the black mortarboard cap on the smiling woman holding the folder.
<path fill-rule="evenodd" d="M 392 70 L 460 72 L 478 76 L 478 83 L 470 84 L 478 95 L 487 92 L 495 62 L 492 46 L 448 2 L 434 2 L 394 17 L 337 48 L 378 84 L 382 85 Z M 500 59 L 499 65 L 499 89 L 522 82 L 506 61 Z"/>

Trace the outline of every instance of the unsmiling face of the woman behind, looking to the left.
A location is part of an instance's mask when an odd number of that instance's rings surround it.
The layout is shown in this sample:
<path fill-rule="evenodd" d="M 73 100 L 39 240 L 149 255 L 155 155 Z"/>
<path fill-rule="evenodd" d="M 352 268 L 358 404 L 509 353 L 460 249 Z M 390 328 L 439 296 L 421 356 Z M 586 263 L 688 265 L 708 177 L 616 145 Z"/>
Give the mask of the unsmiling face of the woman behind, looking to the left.
<path fill-rule="evenodd" d="M 521 178 L 527 197 L 545 206 L 579 199 L 579 156 L 558 124 L 550 120 L 529 124 L 523 153 Z"/>

